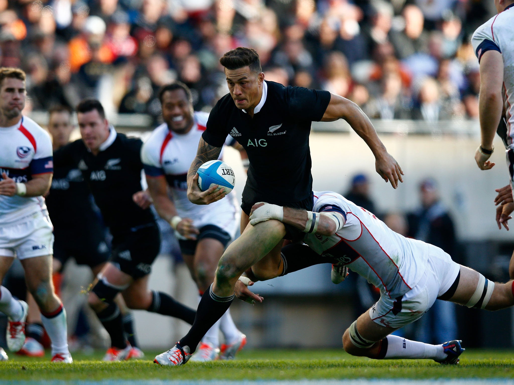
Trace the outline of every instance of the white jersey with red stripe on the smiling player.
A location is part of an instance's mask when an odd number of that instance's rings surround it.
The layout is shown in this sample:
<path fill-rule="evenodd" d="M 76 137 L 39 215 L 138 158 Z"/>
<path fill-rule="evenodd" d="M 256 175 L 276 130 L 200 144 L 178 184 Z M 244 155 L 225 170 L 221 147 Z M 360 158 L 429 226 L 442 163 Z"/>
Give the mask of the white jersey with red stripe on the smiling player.
<path fill-rule="evenodd" d="M 191 203 L 187 197 L 189 167 L 196 157 L 198 143 L 201 134 L 206 129 L 208 118 L 207 112 L 195 112 L 194 125 L 186 134 L 173 132 L 168 129 L 166 123 L 163 123 L 152 132 L 141 149 L 145 174 L 150 177 L 166 177 L 178 215 L 182 218 L 192 219 L 195 226 L 206 224 L 203 223 L 203 217 L 207 211 L 210 214 L 212 214 L 212 210 L 236 213 L 234 194 L 229 194 L 226 198 L 208 206 Z M 227 137 L 225 143 L 231 144 L 232 141 L 231 137 Z M 219 159 L 222 159 L 222 156 L 223 149 Z"/>

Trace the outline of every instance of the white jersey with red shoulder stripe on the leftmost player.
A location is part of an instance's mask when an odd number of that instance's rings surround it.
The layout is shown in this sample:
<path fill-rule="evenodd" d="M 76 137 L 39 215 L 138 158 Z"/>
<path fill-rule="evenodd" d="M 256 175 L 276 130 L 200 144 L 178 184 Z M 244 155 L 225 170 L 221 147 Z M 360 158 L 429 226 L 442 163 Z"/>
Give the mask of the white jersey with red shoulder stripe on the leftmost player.
<path fill-rule="evenodd" d="M 50 136 L 32 119 L 24 116 L 14 126 L 0 127 L 0 179 L 2 172 L 16 183 L 53 172 Z M 43 197 L 0 195 L 0 223 L 12 222 L 37 210 L 46 210 Z"/>

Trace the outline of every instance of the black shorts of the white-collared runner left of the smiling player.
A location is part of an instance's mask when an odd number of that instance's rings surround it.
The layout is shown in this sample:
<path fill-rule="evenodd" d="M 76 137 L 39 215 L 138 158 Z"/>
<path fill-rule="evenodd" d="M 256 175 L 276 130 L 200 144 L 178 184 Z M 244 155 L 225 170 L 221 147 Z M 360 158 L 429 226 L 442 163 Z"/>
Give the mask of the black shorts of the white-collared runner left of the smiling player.
<path fill-rule="evenodd" d="M 113 234 L 113 253 L 109 262 L 138 279 L 152 272 L 159 249 L 159 228 L 156 223 L 149 223 L 121 235 Z"/>

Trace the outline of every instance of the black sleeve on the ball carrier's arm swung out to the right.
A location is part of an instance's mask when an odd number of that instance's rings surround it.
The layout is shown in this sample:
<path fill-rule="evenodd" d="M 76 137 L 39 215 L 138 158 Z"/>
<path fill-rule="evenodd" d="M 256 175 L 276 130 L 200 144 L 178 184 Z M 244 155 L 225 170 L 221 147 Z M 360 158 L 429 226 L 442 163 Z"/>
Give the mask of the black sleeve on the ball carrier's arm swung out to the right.
<path fill-rule="evenodd" d="M 330 102 L 328 91 L 304 87 L 286 87 L 286 106 L 289 115 L 297 120 L 319 122 Z"/>

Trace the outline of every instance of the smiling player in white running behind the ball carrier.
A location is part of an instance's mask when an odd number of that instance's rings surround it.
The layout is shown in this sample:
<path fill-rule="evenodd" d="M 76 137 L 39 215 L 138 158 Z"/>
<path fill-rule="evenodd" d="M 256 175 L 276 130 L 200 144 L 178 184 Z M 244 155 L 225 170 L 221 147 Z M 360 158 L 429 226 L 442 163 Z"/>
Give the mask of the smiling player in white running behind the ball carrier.
<path fill-rule="evenodd" d="M 189 201 L 187 173 L 196 156 L 209 114 L 194 112 L 191 91 L 180 82 L 164 86 L 159 99 L 164 123 L 144 143 L 141 160 L 157 213 L 175 230 L 182 257 L 201 298 L 214 280 L 214 272 L 226 245 L 235 237 L 239 210 L 234 195 L 214 202 L 209 207 Z M 236 142 L 228 137 L 226 144 L 233 145 Z M 243 150 L 242 156 L 245 155 Z M 219 158 L 222 156 L 223 153 Z M 168 186 L 172 199 L 168 195 Z M 221 354 L 218 356 L 220 329 L 225 344 L 221 345 Z M 230 310 L 227 310 L 204 336 L 192 360 L 231 359 L 245 343 L 246 336 L 237 330 Z"/>

